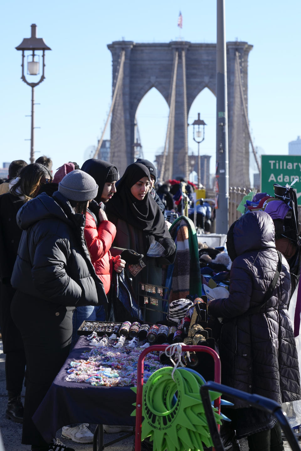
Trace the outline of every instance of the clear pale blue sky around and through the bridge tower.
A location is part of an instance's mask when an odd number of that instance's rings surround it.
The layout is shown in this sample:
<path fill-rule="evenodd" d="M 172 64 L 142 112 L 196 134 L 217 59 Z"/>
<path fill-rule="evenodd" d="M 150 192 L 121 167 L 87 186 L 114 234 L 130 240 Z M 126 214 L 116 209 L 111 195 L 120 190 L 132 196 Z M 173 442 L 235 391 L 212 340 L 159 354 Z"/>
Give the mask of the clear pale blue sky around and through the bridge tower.
<path fill-rule="evenodd" d="M 46 52 L 46 80 L 36 88 L 35 150 L 54 161 L 81 165 L 85 151 L 100 138 L 111 101 L 112 41 L 169 42 L 179 37 L 191 42 L 216 42 L 215 0 L 4 0 L 1 5 L 2 42 L 1 153 L 3 161 L 29 161 L 31 89 L 20 79 L 21 52 L 15 50 L 30 25 L 37 24 L 52 51 Z M 287 154 L 288 142 L 301 134 L 300 105 L 301 1 L 251 2 L 226 0 L 227 41 L 247 41 L 249 55 L 249 120 L 255 145 L 266 154 Z M 208 124 L 201 152 L 215 160 L 215 97 L 207 89 L 195 99 L 189 123 L 201 113 Z M 137 112 L 144 157 L 162 148 L 168 107 L 152 89 Z M 191 128 L 192 129 L 192 128 Z M 109 138 L 109 130 L 107 136 Z M 189 135 L 189 147 L 197 145 Z"/>

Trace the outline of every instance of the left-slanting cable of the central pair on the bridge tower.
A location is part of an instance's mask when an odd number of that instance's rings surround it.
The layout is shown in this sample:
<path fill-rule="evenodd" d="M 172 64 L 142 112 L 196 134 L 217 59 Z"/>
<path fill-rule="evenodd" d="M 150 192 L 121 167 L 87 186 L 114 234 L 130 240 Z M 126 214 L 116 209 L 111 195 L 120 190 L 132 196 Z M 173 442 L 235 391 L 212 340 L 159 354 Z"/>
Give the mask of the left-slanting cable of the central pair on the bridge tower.
<path fill-rule="evenodd" d="M 173 167 L 173 136 L 174 133 L 172 129 L 174 129 L 174 119 L 175 119 L 175 103 L 176 103 L 176 74 L 178 69 L 178 60 L 179 54 L 176 50 L 174 53 L 173 59 L 173 69 L 172 69 L 172 77 L 171 77 L 171 85 L 170 85 L 170 101 L 169 101 L 169 115 L 168 115 L 168 123 L 167 123 L 167 132 L 164 144 L 164 151 L 162 157 L 162 165 L 160 171 L 160 178 L 163 180 L 171 179 L 172 177 L 172 167 Z M 173 124 L 171 126 L 171 123 Z M 168 155 L 167 155 L 168 148 Z M 166 166 L 166 160 L 168 156 L 168 164 Z"/>

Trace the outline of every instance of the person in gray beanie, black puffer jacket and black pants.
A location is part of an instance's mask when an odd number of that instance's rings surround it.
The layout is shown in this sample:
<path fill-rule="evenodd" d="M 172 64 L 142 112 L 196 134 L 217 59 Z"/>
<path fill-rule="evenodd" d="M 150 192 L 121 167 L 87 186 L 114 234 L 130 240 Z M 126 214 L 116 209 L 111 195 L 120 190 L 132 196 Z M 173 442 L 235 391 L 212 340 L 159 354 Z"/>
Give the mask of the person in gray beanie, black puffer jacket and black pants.
<path fill-rule="evenodd" d="M 42 193 L 17 214 L 23 234 L 11 278 L 11 314 L 27 365 L 22 443 L 32 451 L 73 450 L 58 439 L 46 443 L 32 415 L 69 354 L 74 308 L 107 304 L 84 240 L 88 202 L 97 191 L 90 175 L 74 170 L 52 197 Z"/>

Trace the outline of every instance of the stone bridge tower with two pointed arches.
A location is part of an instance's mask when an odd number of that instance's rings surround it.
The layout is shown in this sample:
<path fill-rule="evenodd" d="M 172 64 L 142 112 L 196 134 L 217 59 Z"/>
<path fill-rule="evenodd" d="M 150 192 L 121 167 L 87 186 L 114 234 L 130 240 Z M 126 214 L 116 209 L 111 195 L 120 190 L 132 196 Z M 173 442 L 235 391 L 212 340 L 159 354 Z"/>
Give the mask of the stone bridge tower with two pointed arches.
<path fill-rule="evenodd" d="M 216 44 L 115 41 L 108 48 L 112 53 L 113 93 L 118 87 L 111 119 L 111 162 L 122 175 L 134 161 L 136 110 L 144 95 L 155 87 L 170 106 L 165 175 L 187 177 L 187 116 L 205 87 L 216 94 Z M 247 111 L 248 106 L 251 49 L 247 42 L 227 42 L 229 183 L 236 186 L 250 186 L 244 109 Z"/>

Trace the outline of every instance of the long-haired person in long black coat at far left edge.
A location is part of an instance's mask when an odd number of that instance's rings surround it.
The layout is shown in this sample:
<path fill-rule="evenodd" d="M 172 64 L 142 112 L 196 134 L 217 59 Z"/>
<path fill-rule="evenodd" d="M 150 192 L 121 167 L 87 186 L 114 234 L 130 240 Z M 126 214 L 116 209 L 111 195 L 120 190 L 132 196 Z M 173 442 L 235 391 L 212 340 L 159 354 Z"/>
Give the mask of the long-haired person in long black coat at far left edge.
<path fill-rule="evenodd" d="M 18 167 L 19 163 L 12 167 L 14 166 Z M 9 184 L 10 192 L 0 196 L 0 327 L 5 354 L 6 390 L 9 397 L 6 418 L 17 423 L 23 421 L 21 391 L 26 362 L 23 341 L 10 314 L 10 304 L 15 293 L 10 284 L 10 278 L 22 234 L 16 222 L 16 215 L 19 208 L 35 196 L 47 177 L 49 179 L 48 171 L 44 166 L 25 163 L 19 172 L 19 177 Z"/>

